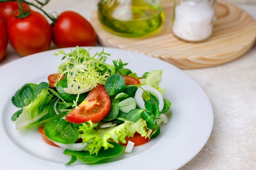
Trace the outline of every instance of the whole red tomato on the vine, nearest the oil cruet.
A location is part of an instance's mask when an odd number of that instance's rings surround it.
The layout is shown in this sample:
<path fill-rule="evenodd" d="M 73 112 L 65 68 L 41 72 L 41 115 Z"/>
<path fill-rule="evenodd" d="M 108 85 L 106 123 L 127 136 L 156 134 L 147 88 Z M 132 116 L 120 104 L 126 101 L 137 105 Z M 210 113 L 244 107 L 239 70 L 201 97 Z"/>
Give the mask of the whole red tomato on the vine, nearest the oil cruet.
<path fill-rule="evenodd" d="M 52 41 L 58 48 L 93 46 L 96 33 L 82 15 L 73 11 L 61 13 L 52 26 Z"/>

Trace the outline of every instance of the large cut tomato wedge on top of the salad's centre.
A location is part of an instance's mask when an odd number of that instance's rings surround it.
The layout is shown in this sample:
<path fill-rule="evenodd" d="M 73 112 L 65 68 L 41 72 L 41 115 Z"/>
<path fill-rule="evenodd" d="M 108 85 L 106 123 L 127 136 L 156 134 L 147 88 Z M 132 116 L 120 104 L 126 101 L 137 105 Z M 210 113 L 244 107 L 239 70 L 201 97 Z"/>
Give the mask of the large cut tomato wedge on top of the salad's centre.
<path fill-rule="evenodd" d="M 90 91 L 78 107 L 79 108 L 74 108 L 67 114 L 66 121 L 80 124 L 91 120 L 92 123 L 97 123 L 108 115 L 110 110 L 110 97 L 99 85 Z"/>

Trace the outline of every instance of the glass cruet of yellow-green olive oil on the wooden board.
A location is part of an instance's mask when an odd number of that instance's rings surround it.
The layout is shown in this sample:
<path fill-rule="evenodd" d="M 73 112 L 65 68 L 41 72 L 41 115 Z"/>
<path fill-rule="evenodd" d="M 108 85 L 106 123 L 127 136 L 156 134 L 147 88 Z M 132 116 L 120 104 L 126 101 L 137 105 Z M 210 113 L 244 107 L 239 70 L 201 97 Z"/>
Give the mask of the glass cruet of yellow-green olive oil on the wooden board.
<path fill-rule="evenodd" d="M 139 37 L 157 30 L 164 22 L 159 0 L 99 0 L 98 18 L 114 34 Z"/>

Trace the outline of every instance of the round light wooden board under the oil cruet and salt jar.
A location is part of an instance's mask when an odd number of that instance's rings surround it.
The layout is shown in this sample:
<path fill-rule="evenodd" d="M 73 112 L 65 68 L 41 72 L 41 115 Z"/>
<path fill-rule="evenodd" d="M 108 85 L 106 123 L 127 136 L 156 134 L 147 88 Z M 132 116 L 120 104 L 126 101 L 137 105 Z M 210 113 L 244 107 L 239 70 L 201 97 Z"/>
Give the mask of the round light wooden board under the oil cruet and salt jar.
<path fill-rule="evenodd" d="M 101 26 L 97 10 L 91 22 L 103 46 L 126 49 L 158 57 L 178 68 L 205 68 L 225 64 L 243 56 L 256 40 L 256 22 L 251 15 L 229 2 L 218 0 L 217 20 L 212 36 L 204 42 L 190 43 L 171 31 L 173 0 L 161 0 L 166 19 L 162 27 L 141 38 L 114 35 Z"/>

